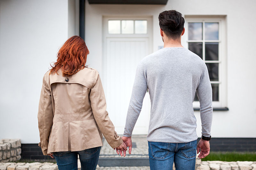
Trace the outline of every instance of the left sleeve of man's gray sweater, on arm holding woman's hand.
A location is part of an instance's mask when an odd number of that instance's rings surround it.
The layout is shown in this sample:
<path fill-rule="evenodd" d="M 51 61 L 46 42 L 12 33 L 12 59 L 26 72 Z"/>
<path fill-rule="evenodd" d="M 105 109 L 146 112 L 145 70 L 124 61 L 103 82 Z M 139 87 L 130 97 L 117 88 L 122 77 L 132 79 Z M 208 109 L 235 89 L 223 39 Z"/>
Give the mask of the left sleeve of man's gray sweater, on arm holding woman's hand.
<path fill-rule="evenodd" d="M 126 116 L 126 123 L 124 127 L 125 137 L 132 136 L 132 131 L 140 115 L 143 99 L 147 89 L 147 76 L 143 68 L 143 64 L 140 62 L 137 66 L 135 80 L 132 88 L 132 96 Z"/>

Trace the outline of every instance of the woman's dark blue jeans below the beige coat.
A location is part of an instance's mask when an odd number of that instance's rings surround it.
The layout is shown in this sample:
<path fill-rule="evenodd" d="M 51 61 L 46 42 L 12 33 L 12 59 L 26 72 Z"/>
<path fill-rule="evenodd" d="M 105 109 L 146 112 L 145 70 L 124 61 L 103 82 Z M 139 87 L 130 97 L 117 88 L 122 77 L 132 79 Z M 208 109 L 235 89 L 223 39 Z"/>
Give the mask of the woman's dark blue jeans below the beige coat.
<path fill-rule="evenodd" d="M 81 170 L 95 170 L 100 156 L 100 148 L 90 148 L 83 151 L 53 152 L 59 170 L 77 170 L 77 155 L 81 162 Z"/>

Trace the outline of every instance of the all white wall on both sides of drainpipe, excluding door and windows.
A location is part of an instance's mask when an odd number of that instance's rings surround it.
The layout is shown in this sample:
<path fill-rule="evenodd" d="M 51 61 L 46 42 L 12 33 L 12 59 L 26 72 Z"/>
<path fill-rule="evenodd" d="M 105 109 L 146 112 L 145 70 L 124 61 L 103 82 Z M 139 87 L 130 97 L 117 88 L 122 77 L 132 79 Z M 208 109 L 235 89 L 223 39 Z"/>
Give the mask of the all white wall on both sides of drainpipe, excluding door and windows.
<path fill-rule="evenodd" d="M 69 8 L 68 8 L 68 3 Z M 76 6 L 76 9 L 74 9 Z M 102 72 L 102 16 L 152 16 L 153 51 L 162 46 L 158 14 L 227 15 L 229 111 L 214 112 L 213 137 L 256 137 L 256 1 L 169 0 L 167 5 L 90 5 L 86 2 L 87 64 Z M 71 7 L 71 8 L 70 8 Z M 70 0 L 0 0 L 0 138 L 38 143 L 42 78 L 60 46 L 78 33 L 78 5 Z M 76 18 L 76 22 L 71 18 Z M 74 26 L 75 23 L 75 26 Z M 128 103 L 127 103 L 128 105 Z M 195 112 L 200 136 L 200 115 Z"/>

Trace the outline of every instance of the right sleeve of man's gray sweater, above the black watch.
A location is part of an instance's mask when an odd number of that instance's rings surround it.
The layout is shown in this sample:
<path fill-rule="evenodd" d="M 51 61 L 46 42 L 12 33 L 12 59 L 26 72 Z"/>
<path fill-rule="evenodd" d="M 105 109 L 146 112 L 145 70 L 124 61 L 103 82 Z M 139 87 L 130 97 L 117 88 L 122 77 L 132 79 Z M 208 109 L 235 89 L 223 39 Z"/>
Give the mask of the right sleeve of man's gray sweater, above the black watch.
<path fill-rule="evenodd" d="M 210 137 L 212 127 L 212 86 L 205 64 L 196 93 L 200 102 L 202 135 Z"/>

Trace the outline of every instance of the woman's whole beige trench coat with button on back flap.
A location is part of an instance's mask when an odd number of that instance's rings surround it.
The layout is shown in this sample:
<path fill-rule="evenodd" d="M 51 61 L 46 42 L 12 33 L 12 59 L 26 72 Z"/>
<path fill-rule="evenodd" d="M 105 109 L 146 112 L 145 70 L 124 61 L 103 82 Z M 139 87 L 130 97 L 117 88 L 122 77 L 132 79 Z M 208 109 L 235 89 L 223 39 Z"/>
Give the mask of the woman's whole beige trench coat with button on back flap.
<path fill-rule="evenodd" d="M 97 70 L 85 67 L 69 77 L 62 77 L 61 70 L 59 75 L 49 72 L 43 78 L 37 116 L 44 155 L 102 146 L 102 133 L 112 148 L 122 144 L 108 117 Z"/>

